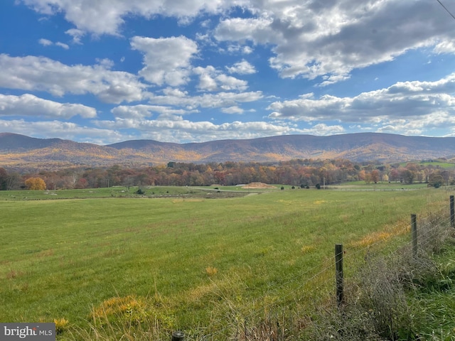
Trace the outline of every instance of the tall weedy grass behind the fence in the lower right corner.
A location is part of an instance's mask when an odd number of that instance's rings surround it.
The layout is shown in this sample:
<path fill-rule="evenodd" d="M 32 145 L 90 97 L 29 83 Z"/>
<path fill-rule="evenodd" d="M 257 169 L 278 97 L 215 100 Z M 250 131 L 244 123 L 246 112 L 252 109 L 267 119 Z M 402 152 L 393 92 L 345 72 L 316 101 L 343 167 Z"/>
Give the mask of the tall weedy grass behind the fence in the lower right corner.
<path fill-rule="evenodd" d="M 411 243 L 368 254 L 350 278 L 346 302 L 320 311 L 304 339 L 455 340 L 455 230 L 447 213 L 419 221 L 417 254 Z"/>

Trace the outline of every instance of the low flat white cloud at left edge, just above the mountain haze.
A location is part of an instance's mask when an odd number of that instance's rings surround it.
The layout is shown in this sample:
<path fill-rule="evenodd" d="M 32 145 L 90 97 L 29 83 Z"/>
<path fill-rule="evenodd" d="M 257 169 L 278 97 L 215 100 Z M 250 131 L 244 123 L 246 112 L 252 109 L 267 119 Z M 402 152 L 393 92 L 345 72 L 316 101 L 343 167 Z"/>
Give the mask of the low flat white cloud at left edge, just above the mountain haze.
<path fill-rule="evenodd" d="M 33 94 L 21 96 L 0 94 L 0 116 L 70 119 L 76 115 L 84 118 L 95 118 L 97 112 L 94 108 L 82 104 L 53 102 L 38 98 Z"/>

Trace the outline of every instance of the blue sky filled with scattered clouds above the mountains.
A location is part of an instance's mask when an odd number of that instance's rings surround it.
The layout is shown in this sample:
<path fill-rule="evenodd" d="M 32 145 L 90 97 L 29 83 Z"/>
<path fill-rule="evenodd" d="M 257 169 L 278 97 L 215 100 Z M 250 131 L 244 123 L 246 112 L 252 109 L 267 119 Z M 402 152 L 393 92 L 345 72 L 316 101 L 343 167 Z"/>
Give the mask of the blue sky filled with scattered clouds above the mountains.
<path fill-rule="evenodd" d="M 454 0 L 1 0 L 0 132 L 455 136 Z"/>

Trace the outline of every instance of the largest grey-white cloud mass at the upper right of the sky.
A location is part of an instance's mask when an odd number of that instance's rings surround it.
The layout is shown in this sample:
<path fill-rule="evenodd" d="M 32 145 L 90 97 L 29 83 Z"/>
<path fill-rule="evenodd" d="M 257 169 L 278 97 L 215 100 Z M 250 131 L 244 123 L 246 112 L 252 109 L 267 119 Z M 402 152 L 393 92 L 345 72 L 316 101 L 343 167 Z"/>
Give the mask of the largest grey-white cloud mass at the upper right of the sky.
<path fill-rule="evenodd" d="M 274 46 L 270 65 L 281 77 L 346 80 L 350 71 L 393 60 L 408 50 L 433 47 L 454 53 L 453 20 L 436 2 L 414 0 L 252 1 L 256 16 L 225 18 L 215 38 Z"/>

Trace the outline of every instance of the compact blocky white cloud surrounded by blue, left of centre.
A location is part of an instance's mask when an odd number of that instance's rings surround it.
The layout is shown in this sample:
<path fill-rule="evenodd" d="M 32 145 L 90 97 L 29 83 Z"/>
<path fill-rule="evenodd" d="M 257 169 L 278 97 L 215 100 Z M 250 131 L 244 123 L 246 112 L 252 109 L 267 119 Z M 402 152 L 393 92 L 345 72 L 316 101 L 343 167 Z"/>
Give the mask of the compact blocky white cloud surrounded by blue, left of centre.
<path fill-rule="evenodd" d="M 133 37 L 134 50 L 144 53 L 144 68 L 139 75 L 156 85 L 179 86 L 188 82 L 191 59 L 198 53 L 198 45 L 186 37 Z"/>

